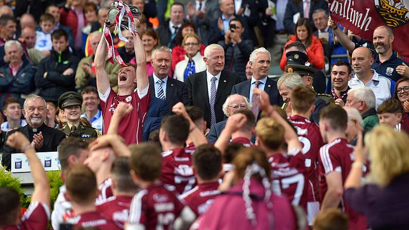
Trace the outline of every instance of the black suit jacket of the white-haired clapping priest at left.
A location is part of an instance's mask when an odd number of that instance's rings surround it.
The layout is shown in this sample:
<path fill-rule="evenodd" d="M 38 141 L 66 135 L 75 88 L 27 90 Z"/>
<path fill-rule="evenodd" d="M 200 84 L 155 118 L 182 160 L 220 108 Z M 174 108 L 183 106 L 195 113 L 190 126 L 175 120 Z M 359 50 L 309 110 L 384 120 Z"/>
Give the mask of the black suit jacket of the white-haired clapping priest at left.
<path fill-rule="evenodd" d="M 29 125 L 20 127 L 18 129 L 9 131 L 6 136 L 7 138 L 14 132 L 22 132 L 28 140 L 33 140 L 33 137 L 30 136 L 30 129 Z M 65 138 L 65 133 L 60 130 L 48 127 L 47 125 L 43 124 L 40 128 L 38 128 L 38 133 L 41 131 L 44 137 L 44 144 L 43 147 L 40 149 L 35 149 L 36 152 L 54 152 L 57 151 L 57 147 L 60 145 L 61 140 Z M 6 141 L 5 140 L 5 141 Z M 8 145 L 4 145 L 3 147 L 3 156 L 2 156 L 2 165 L 6 166 L 8 170 L 11 169 L 11 154 L 12 153 L 19 153 L 20 151 L 11 148 Z"/>

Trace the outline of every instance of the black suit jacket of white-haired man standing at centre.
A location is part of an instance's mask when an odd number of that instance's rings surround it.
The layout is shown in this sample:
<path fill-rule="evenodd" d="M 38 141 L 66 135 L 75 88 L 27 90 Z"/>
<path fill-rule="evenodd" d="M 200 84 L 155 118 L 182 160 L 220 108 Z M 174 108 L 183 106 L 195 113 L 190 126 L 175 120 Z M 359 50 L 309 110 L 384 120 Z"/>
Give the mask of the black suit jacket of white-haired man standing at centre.
<path fill-rule="evenodd" d="M 203 117 L 210 128 L 210 102 L 207 90 L 206 70 L 190 75 L 187 78 L 187 90 L 189 93 L 189 104 L 202 108 Z M 232 92 L 233 85 L 239 83 L 239 76 L 228 70 L 222 70 L 216 93 L 215 113 L 216 122 L 224 120 L 222 105 Z"/>

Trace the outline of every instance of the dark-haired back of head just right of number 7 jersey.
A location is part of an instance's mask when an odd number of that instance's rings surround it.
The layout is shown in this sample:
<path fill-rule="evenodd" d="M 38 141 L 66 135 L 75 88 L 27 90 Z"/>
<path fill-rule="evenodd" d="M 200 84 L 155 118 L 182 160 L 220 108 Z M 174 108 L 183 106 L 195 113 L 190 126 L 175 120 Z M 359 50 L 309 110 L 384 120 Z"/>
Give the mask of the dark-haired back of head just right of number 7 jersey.
<path fill-rule="evenodd" d="M 193 165 L 202 180 L 215 179 L 222 169 L 222 154 L 212 145 L 199 146 L 193 155 Z"/>

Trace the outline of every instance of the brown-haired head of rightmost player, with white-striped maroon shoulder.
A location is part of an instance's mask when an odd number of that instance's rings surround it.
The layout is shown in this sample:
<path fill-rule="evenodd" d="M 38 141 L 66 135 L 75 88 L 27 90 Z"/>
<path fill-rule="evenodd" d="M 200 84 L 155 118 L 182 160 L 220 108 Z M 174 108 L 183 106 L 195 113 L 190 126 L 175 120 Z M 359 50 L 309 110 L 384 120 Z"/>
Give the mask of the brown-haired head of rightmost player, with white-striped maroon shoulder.
<path fill-rule="evenodd" d="M 342 107 L 328 105 L 319 113 L 319 120 L 326 120 L 334 131 L 345 132 L 348 123 L 348 114 Z"/>

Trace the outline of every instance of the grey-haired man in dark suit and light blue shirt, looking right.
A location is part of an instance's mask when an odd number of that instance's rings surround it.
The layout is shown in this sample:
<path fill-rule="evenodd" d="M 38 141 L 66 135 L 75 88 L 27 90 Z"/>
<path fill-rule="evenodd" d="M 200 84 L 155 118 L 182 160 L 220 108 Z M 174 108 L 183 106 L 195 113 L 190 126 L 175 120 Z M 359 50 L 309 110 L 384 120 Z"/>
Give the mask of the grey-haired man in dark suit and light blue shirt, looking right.
<path fill-rule="evenodd" d="M 233 86 L 232 94 L 240 94 L 250 99 L 251 110 L 254 116 L 260 118 L 260 105 L 257 100 L 253 100 L 253 89 L 255 87 L 264 90 L 270 96 L 270 103 L 280 104 L 280 94 L 277 90 L 277 82 L 271 80 L 267 74 L 270 69 L 270 52 L 261 47 L 255 49 L 250 55 L 250 66 L 253 69 L 251 79 L 240 82 Z"/>

